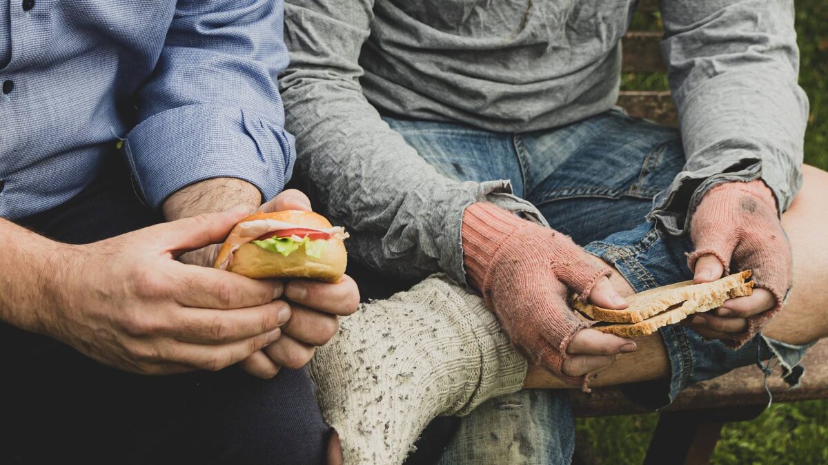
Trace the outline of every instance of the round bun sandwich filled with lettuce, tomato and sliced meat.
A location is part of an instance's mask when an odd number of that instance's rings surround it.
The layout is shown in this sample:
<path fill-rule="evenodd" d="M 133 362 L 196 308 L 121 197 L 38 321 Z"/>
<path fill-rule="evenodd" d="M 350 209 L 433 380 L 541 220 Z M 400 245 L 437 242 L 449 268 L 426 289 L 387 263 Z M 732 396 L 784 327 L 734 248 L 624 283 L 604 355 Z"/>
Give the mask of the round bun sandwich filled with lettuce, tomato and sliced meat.
<path fill-rule="evenodd" d="M 344 228 L 318 213 L 255 213 L 233 228 L 214 268 L 249 278 L 308 278 L 336 282 L 348 262 Z"/>

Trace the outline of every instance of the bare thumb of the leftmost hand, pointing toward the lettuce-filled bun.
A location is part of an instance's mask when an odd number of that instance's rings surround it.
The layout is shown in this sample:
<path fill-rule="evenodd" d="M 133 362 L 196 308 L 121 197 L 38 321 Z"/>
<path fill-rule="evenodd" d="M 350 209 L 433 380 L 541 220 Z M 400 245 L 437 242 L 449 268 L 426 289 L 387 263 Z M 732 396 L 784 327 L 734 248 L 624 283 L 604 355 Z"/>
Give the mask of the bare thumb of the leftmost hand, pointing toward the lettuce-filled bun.
<path fill-rule="evenodd" d="M 147 228 L 152 230 L 147 232 L 155 235 L 165 252 L 179 256 L 184 252 L 224 242 L 236 223 L 249 214 L 250 209 L 236 207 L 223 213 L 203 213 L 157 224 Z"/>

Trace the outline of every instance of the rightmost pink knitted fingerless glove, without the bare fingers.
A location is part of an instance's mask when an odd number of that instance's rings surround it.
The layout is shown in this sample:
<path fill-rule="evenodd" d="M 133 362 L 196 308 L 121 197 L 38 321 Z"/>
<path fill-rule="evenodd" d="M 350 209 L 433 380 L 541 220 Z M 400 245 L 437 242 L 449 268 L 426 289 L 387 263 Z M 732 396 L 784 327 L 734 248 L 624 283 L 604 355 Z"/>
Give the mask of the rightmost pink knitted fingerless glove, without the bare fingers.
<path fill-rule="evenodd" d="M 762 180 L 729 182 L 715 186 L 701 199 L 691 218 L 691 239 L 696 250 L 687 257 L 691 270 L 696 260 L 713 254 L 729 273 L 730 261 L 739 270 L 753 271 L 753 281 L 776 297 L 777 304 L 748 319 L 748 328 L 732 343 L 741 347 L 782 308 L 791 288 L 791 246 L 777 217 L 776 201 Z"/>

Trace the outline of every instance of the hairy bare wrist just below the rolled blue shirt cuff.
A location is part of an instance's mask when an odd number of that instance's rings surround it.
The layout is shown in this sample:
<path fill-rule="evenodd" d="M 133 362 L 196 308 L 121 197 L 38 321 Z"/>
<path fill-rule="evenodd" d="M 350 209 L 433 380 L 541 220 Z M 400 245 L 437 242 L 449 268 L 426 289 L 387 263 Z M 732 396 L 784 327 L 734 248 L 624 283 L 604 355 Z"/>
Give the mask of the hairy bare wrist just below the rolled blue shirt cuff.
<path fill-rule="evenodd" d="M 179 189 L 166 199 L 161 208 L 167 221 L 175 221 L 235 207 L 247 207 L 253 211 L 260 205 L 262 193 L 255 185 L 236 178 L 214 178 Z"/>

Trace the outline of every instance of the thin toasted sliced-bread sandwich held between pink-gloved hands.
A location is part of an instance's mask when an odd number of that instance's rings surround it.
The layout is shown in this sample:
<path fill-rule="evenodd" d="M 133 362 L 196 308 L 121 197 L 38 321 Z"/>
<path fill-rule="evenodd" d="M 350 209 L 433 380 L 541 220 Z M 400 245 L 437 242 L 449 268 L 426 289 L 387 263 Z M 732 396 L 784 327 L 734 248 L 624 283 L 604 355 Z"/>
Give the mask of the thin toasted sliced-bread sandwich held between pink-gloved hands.
<path fill-rule="evenodd" d="M 745 270 L 709 283 L 693 281 L 644 290 L 628 298 L 623 310 L 602 309 L 575 299 L 571 304 L 592 328 L 623 338 L 654 333 L 667 324 L 676 324 L 691 314 L 716 309 L 725 300 L 753 293 L 750 271 Z"/>

